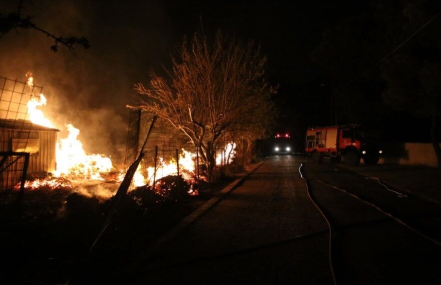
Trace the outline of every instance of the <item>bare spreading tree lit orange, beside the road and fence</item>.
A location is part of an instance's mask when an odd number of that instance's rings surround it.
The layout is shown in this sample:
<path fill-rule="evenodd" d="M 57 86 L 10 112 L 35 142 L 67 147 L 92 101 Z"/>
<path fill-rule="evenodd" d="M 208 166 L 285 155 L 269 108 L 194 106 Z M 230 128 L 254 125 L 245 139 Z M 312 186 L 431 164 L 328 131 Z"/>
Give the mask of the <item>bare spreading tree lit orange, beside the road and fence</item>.
<path fill-rule="evenodd" d="M 212 180 L 219 140 L 234 133 L 258 138 L 271 116 L 275 88 L 263 78 L 266 57 L 253 42 L 218 32 L 212 41 L 195 33 L 184 39 L 164 78 L 151 89 L 135 85 L 142 109 L 170 122 L 195 144 Z"/>

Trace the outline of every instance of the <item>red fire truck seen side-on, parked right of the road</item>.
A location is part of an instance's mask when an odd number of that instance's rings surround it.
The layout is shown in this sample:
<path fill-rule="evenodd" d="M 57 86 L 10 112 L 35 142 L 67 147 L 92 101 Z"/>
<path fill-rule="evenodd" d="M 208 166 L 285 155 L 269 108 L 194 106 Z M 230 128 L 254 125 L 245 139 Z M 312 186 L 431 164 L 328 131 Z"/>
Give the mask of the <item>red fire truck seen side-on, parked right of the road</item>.
<path fill-rule="evenodd" d="M 383 153 L 378 135 L 355 124 L 308 128 L 305 150 L 314 163 L 323 157 L 340 162 L 343 156 L 349 165 L 358 165 L 360 158 L 366 164 L 377 164 Z"/>

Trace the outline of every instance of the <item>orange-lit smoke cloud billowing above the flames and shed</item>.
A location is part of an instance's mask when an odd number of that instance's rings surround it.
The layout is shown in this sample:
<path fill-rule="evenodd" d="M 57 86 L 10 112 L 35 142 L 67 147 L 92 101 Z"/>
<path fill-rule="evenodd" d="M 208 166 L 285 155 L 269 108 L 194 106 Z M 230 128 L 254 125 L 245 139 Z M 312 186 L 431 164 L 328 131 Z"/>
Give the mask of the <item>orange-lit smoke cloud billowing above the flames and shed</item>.
<path fill-rule="evenodd" d="M 19 1 L 0 3 L 0 11 L 15 11 Z M 134 101 L 133 85 L 148 83 L 151 70 L 169 59 L 170 24 L 160 2 L 144 1 L 23 1 L 22 15 L 32 15 L 39 27 L 55 35 L 85 36 L 91 48 L 75 53 L 33 29 L 10 31 L 0 38 L 0 76 L 43 86 L 43 108 L 61 134 L 65 124 L 80 129 L 88 152 L 124 158 L 127 104 Z"/>

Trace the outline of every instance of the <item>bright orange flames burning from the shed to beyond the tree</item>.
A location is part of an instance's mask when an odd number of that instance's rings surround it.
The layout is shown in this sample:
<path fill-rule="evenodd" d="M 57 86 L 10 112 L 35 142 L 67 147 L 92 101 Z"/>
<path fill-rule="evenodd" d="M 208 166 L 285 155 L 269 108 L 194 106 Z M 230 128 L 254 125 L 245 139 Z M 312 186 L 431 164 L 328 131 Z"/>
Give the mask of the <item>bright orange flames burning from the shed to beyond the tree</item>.
<path fill-rule="evenodd" d="M 27 85 L 32 90 L 33 77 L 31 73 L 26 74 Z M 27 103 L 27 118 L 33 124 L 56 128 L 56 126 L 44 116 L 44 113 L 39 109 L 46 106 L 47 99 L 43 94 L 39 97 L 32 97 Z M 26 189 L 36 189 L 39 187 L 48 188 L 71 188 L 71 184 L 66 184 L 66 179 L 87 179 L 87 180 L 104 180 L 103 174 L 109 173 L 112 170 L 112 161 L 110 157 L 103 154 L 90 154 L 87 153 L 81 141 L 78 140 L 80 130 L 75 128 L 71 124 L 66 125 L 66 129 L 69 132 L 66 138 L 60 139 L 56 143 L 56 170 L 54 171 L 55 177 L 46 179 L 35 179 L 33 181 L 26 181 Z M 233 142 L 228 143 L 221 150 L 221 153 L 216 157 L 216 164 L 228 164 L 231 163 L 235 151 L 236 144 Z M 176 175 L 178 172 L 178 165 L 176 158 L 166 160 L 163 157 L 158 157 L 159 162 L 154 166 L 141 169 L 141 164 L 133 177 L 133 185 L 135 187 L 143 186 L 146 184 L 153 185 L 154 179 L 158 180 L 168 175 Z M 196 153 L 181 149 L 179 154 L 179 172 L 187 179 L 195 176 L 196 168 Z M 156 170 L 156 171 L 155 171 Z M 146 173 L 144 177 L 142 173 Z M 155 177 L 155 178 L 154 178 Z M 120 173 L 118 180 L 122 181 L 124 173 Z M 19 184 L 18 184 L 19 188 Z M 81 187 L 80 187 L 81 188 Z M 81 190 L 79 190 L 81 193 Z M 84 192 L 84 191 L 83 191 Z M 101 191 L 105 192 L 105 191 Z M 191 193 L 192 194 L 192 193 Z M 196 192 L 193 194 L 197 194 Z M 90 193 L 89 193 L 90 195 Z M 105 195 L 108 196 L 107 192 Z M 110 197 L 110 196 L 109 196 Z"/>

